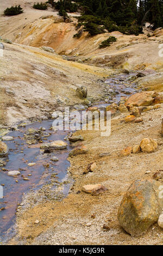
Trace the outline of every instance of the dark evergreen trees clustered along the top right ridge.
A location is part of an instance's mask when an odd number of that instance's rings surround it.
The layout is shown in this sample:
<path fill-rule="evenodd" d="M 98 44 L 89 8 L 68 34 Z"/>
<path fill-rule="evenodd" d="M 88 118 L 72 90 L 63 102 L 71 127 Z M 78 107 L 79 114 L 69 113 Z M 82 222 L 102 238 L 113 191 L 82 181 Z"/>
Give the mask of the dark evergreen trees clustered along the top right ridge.
<path fill-rule="evenodd" d="M 82 10 L 78 21 L 92 35 L 99 25 L 109 32 L 142 33 L 142 26 L 151 23 L 153 29 L 163 27 L 163 0 L 76 0 Z M 93 23 L 89 25 L 86 23 Z M 92 28 L 95 28 L 95 33 Z M 100 32 L 101 33 L 101 32 Z"/>

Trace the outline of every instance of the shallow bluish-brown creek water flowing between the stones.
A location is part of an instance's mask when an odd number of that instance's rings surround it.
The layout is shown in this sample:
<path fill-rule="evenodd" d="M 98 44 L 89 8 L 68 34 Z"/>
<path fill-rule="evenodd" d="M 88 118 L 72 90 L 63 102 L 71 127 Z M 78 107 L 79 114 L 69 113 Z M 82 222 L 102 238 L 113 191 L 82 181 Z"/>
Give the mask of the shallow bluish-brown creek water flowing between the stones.
<path fill-rule="evenodd" d="M 116 77 L 109 78 L 105 81 L 108 84 L 109 92 L 114 92 L 111 96 L 110 102 L 99 102 L 94 106 L 106 106 L 112 102 L 119 102 L 121 96 L 129 96 L 137 92 L 136 84 L 130 81 L 133 74 L 123 74 Z M 5 240 L 7 230 L 12 233 L 12 227 L 15 222 L 15 212 L 17 205 L 21 203 L 21 199 L 24 193 L 30 190 L 38 190 L 43 184 L 46 184 L 51 178 L 52 174 L 57 173 L 58 181 L 61 182 L 66 178 L 67 168 L 70 163 L 67 161 L 68 153 L 72 147 L 68 141 L 67 149 L 55 150 L 51 154 L 43 154 L 40 151 L 40 144 L 29 145 L 24 139 L 24 133 L 33 128 L 39 130 L 39 127 L 45 127 L 46 132 L 49 133 L 48 137 L 42 137 L 43 143 L 49 143 L 51 141 L 64 141 L 64 138 L 68 135 L 69 131 L 57 131 L 50 130 L 53 120 L 41 121 L 33 124 L 26 125 L 25 127 L 18 127 L 18 131 L 11 131 L 9 136 L 14 137 L 13 141 L 4 141 L 9 147 L 8 157 L 4 157 L 7 164 L 4 167 L 0 167 L 0 184 L 3 186 L 3 199 L 0 199 L 0 242 Z M 52 156 L 57 156 L 59 161 L 51 161 Z M 34 166 L 28 166 L 28 163 L 35 162 Z M 48 168 L 45 167 L 49 164 Z M 6 170 L 4 170 L 4 169 Z M 8 170 L 19 170 L 20 175 L 15 178 L 8 176 Z M 27 177 L 29 180 L 23 180 Z M 52 189 L 55 188 L 55 184 Z M 64 194 L 65 197 L 68 194 L 70 185 L 65 185 Z"/>

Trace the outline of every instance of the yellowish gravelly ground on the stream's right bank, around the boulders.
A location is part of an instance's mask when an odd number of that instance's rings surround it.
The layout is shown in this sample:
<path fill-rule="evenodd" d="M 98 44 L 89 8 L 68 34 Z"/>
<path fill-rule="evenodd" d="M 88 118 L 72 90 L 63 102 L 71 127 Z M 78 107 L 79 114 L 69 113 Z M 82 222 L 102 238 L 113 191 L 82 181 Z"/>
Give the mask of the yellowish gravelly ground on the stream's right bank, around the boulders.
<path fill-rule="evenodd" d="M 163 140 L 160 136 L 160 109 L 142 114 L 143 123 L 124 123 L 123 115 L 112 119 L 111 136 L 101 137 L 99 131 L 78 131 L 89 149 L 86 155 L 70 157 L 68 169 L 75 182 L 71 193 L 61 202 L 44 201 L 28 205 L 17 213 L 18 234 L 10 244 L 25 245 L 162 245 L 162 230 L 156 223 L 141 237 L 131 237 L 120 227 L 117 210 L 123 194 L 135 179 L 149 179 L 163 167 Z M 152 137 L 159 142 L 158 150 L 151 154 L 120 156 L 127 146 Z M 99 157 L 100 153 L 110 156 Z M 97 170 L 83 174 L 90 162 Z M 150 173 L 146 173 L 150 171 Z M 108 191 L 100 196 L 82 192 L 86 184 L 103 184 Z M 80 192 L 79 192 L 80 191 Z M 25 200 L 24 200 L 25 202 Z M 30 196 L 29 196 L 30 202 Z M 39 220 L 39 224 L 35 221 Z M 103 229 L 103 224 L 109 230 Z"/>

